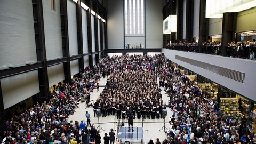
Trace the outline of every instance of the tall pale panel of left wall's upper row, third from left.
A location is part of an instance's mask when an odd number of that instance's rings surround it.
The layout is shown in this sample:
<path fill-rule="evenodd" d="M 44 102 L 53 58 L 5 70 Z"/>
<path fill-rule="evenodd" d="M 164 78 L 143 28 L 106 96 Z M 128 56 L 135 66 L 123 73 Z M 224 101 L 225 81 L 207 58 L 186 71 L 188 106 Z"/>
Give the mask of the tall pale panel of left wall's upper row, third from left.
<path fill-rule="evenodd" d="M 73 0 L 67 0 L 67 10 L 68 10 L 69 55 L 70 56 L 78 55 L 76 4 Z"/>

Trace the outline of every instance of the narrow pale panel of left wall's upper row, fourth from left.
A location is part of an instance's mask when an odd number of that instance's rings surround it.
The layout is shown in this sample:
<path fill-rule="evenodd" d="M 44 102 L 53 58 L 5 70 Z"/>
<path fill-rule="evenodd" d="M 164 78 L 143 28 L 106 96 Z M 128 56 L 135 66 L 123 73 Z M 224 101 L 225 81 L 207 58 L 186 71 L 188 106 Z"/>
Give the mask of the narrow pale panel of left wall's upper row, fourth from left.
<path fill-rule="evenodd" d="M 88 53 L 87 11 L 82 9 L 83 51 Z"/>

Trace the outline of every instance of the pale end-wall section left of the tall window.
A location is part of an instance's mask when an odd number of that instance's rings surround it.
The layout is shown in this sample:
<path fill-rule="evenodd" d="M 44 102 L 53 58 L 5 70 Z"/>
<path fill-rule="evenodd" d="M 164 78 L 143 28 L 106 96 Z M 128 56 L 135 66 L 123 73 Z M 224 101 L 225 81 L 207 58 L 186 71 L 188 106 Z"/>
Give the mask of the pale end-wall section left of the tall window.
<path fill-rule="evenodd" d="M 108 49 L 124 47 L 124 1 L 107 1 Z"/>

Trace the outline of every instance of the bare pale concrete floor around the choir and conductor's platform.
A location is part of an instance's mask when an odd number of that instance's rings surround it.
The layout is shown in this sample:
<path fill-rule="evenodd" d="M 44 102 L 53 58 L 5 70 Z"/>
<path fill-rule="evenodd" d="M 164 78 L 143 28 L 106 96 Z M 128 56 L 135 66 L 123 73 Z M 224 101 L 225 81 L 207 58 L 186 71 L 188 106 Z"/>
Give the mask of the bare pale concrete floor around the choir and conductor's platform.
<path fill-rule="evenodd" d="M 97 100 L 100 92 L 103 91 L 104 89 L 104 85 L 106 84 L 107 78 L 101 78 L 99 81 L 99 85 L 102 86 L 99 88 L 99 92 L 97 92 L 97 90 L 95 89 L 92 93 L 91 93 L 91 100 L 93 100 L 93 102 L 95 102 L 95 100 Z M 158 84 L 159 84 L 159 80 L 158 80 Z M 163 103 L 166 102 L 168 103 L 169 97 L 167 97 L 167 94 L 165 94 L 164 88 L 161 87 L 162 91 L 162 95 L 163 95 Z M 115 134 L 117 135 L 117 122 L 118 119 L 116 118 L 116 116 L 107 116 L 107 117 L 93 117 L 93 109 L 92 108 L 86 108 L 86 104 L 85 102 L 80 103 L 79 104 L 79 108 L 76 109 L 76 113 L 74 115 L 70 115 L 68 118 L 68 122 L 70 122 L 70 120 L 73 121 L 78 121 L 79 123 L 81 122 L 81 120 L 85 119 L 86 122 L 86 117 L 85 117 L 85 111 L 88 111 L 91 114 L 91 124 L 94 123 L 95 127 L 98 127 L 98 118 L 99 118 L 99 123 L 100 123 L 100 127 L 102 127 L 102 129 L 100 129 L 100 134 L 101 134 L 101 143 L 104 142 L 103 137 L 104 137 L 104 133 L 109 133 L 110 129 L 112 128 L 113 130 L 115 130 Z M 169 122 L 169 117 L 171 117 L 173 114 L 173 112 L 171 111 L 170 108 L 167 108 L 167 116 L 165 117 L 165 126 L 167 128 L 169 128 L 170 124 Z M 121 120 L 122 122 L 122 120 Z M 127 122 L 127 119 L 125 119 L 124 122 Z M 125 123 L 125 126 L 127 126 L 128 123 Z M 150 139 L 153 140 L 153 142 L 156 142 L 156 138 L 159 138 L 159 141 L 162 143 L 162 141 L 164 139 L 166 139 L 166 134 L 164 133 L 163 129 L 161 130 L 161 128 L 164 126 L 164 119 L 145 119 L 143 120 L 143 126 L 142 126 L 142 119 L 137 119 L 135 118 L 133 120 L 133 126 L 138 126 L 138 127 L 143 127 L 143 142 L 144 143 L 148 143 Z M 97 129 L 99 130 L 99 129 Z M 160 131 L 159 131 L 160 130 Z M 125 141 L 130 141 L 130 143 L 141 143 L 141 140 L 134 140 L 134 139 L 127 139 L 124 140 L 122 139 L 121 143 L 124 143 Z M 115 141 L 116 143 L 116 141 Z"/>

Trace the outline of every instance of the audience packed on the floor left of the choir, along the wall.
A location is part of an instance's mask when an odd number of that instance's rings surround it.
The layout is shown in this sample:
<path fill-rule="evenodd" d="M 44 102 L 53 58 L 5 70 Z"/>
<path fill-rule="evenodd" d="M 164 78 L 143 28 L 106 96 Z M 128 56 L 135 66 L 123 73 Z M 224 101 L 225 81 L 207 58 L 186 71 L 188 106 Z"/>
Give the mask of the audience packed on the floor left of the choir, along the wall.
<path fill-rule="evenodd" d="M 85 123 L 68 122 L 68 117 L 75 113 L 81 98 L 89 105 L 90 92 L 100 79 L 99 69 L 98 66 L 88 66 L 70 83 L 54 86 L 47 102 L 37 102 L 28 108 L 25 103 L 15 106 L 14 111 L 9 111 L 13 115 L 6 115 L 6 131 L 1 132 L 1 141 L 22 144 L 89 143 L 89 130 Z M 86 117 L 90 119 L 87 113 Z M 93 132 L 93 127 L 90 132 Z"/>

